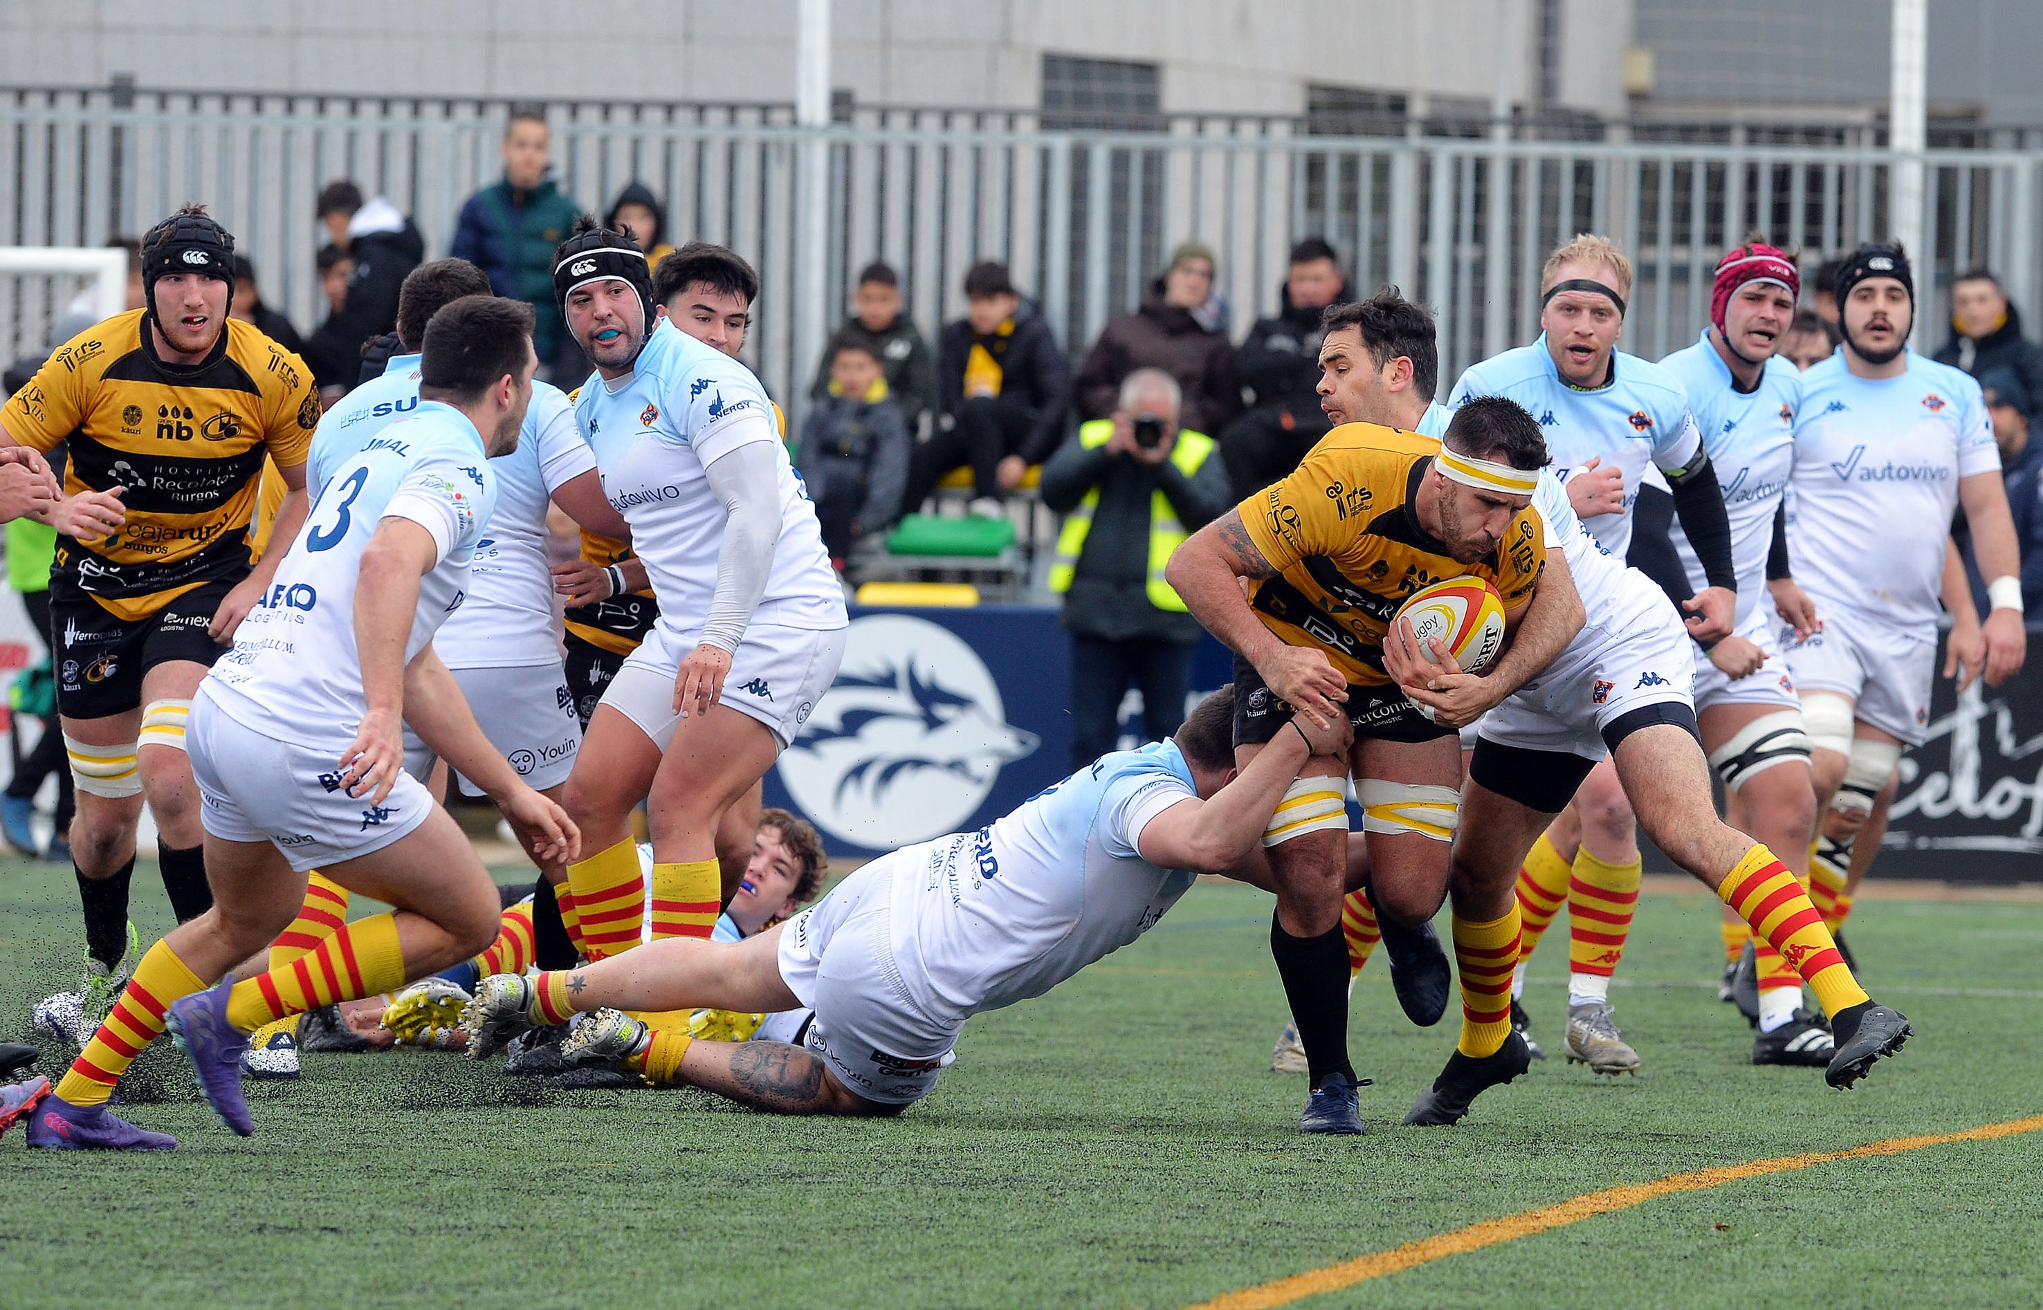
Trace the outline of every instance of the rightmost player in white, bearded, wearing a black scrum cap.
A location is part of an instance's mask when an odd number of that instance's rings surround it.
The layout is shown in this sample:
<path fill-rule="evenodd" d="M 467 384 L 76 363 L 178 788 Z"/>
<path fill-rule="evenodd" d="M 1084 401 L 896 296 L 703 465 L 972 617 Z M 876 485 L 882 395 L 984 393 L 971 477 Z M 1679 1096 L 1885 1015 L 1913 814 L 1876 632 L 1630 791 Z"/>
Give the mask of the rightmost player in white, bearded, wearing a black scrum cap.
<path fill-rule="evenodd" d="M 1900 245 L 1867 243 L 1837 286 L 1837 354 L 1802 374 L 1794 431 L 1796 578 L 1822 623 L 1784 634 L 1788 668 L 1816 746 L 1816 801 L 1826 807 L 1810 864 L 1818 895 L 1847 897 L 1865 877 L 1902 748 L 1929 730 L 1937 672 L 1937 603 L 1959 617 L 1951 666 L 1998 685 L 2021 670 L 2021 552 L 2000 484 L 2000 452 L 1980 384 L 1908 349 L 1914 276 Z M 1992 611 L 1974 619 L 1963 574 L 1947 584 L 1951 515 L 1965 509 Z M 1961 642 L 1959 634 L 1971 636 Z M 1851 879 L 1851 881 L 1847 881 Z"/>

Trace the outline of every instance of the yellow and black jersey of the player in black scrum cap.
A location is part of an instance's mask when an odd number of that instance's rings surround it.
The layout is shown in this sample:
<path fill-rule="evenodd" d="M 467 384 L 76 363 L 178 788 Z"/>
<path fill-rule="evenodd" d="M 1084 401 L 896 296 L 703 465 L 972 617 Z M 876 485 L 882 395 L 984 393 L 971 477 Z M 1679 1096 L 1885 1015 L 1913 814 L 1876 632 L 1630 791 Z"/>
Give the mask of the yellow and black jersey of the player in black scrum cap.
<path fill-rule="evenodd" d="M 0 425 L 35 450 L 69 441 L 65 495 L 123 488 L 127 523 L 102 540 L 57 537 L 53 578 L 135 621 L 247 574 L 264 458 L 304 464 L 319 396 L 298 356 L 239 319 L 200 364 L 165 364 L 149 311 L 135 309 L 57 349 Z"/>

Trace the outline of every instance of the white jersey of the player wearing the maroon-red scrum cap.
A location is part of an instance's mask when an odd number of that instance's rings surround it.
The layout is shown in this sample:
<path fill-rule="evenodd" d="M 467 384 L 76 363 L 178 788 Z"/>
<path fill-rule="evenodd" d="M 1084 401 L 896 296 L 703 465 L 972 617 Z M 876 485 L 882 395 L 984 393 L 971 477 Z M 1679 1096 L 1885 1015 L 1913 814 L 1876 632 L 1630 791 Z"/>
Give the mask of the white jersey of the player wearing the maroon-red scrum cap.
<path fill-rule="evenodd" d="M 1773 515 L 1788 493 L 1788 474 L 1794 468 L 1794 419 L 1802 409 L 1802 372 L 1773 356 L 1759 374 L 1757 388 L 1735 390 L 1730 366 L 1716 354 L 1708 331 L 1696 345 L 1661 360 L 1661 368 L 1688 392 L 1702 446 L 1716 466 L 1718 486 L 1724 488 L 1730 564 L 1739 574 L 1737 627 L 1743 629 L 1767 595 Z M 1688 544 L 1679 519 L 1669 535 L 1681 556 L 1681 568 L 1688 570 L 1688 584 L 1696 591 L 1708 587 L 1710 578 L 1702 572 L 1702 560 Z"/>

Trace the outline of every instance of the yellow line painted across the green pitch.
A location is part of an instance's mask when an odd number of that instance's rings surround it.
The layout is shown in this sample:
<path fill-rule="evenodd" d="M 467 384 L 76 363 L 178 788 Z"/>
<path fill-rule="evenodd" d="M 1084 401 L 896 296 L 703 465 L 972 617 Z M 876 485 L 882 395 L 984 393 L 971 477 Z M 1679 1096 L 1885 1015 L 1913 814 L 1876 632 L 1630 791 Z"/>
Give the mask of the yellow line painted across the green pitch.
<path fill-rule="evenodd" d="M 1199 1302 L 1197 1306 L 1187 1306 L 1187 1310 L 1269 1310 L 1271 1306 L 1289 1306 L 1295 1300 L 1308 1296 L 1320 1296 L 1324 1292 L 1340 1292 L 1342 1288 L 1352 1288 L 1355 1283 L 1367 1283 L 1373 1277 L 1383 1277 L 1387 1273 L 1399 1273 L 1404 1269 L 1414 1269 L 1418 1265 L 1444 1259 L 1448 1255 L 1467 1255 L 1469 1251 L 1481 1251 L 1483 1247 L 1495 1247 L 1498 1243 L 1514 1243 L 1520 1236 L 1532 1236 L 1534 1232 L 1545 1232 L 1549 1228 L 1565 1228 L 1567 1224 L 1579 1224 L 1585 1218 L 1596 1218 L 1598 1214 L 1610 1214 L 1614 1210 L 1630 1210 L 1632 1206 L 1643 1206 L 1661 1196 L 1673 1196 L 1675 1191 L 1704 1191 L 1708 1187 L 1720 1187 L 1724 1183 L 1737 1183 L 1749 1177 L 1761 1177 L 1765 1173 L 1786 1173 L 1790 1169 L 1808 1169 L 1810 1165 L 1828 1165 L 1831 1161 L 1849 1161 L 1865 1155 L 1900 1155 L 1902 1151 L 1920 1151 L 1922 1147 L 1943 1147 L 1945 1142 L 1980 1142 L 1996 1136 L 2016 1136 L 2021 1132 L 2037 1132 L 2043 1128 L 2043 1114 L 2033 1114 L 2023 1120 L 2006 1120 L 2000 1124 L 1984 1124 L 1980 1128 L 1967 1128 L 1963 1132 L 1941 1132 L 1935 1136 L 1896 1136 L 1884 1142 L 1867 1142 L 1863 1147 L 1853 1147 L 1851 1151 L 1824 1151 L 1816 1155 L 1784 1155 L 1771 1161 L 1747 1161 L 1743 1165 L 1724 1165 L 1722 1169 L 1698 1169 L 1696 1173 L 1671 1173 L 1653 1183 L 1634 1183 L 1628 1187 L 1606 1187 L 1604 1191 L 1589 1191 L 1573 1200 L 1561 1202 L 1559 1206 L 1545 1206 L 1540 1210 L 1524 1210 L 1520 1214 L 1506 1214 L 1504 1218 L 1483 1220 L 1479 1224 L 1469 1224 L 1467 1228 L 1455 1228 L 1453 1232 L 1440 1232 L 1434 1236 L 1420 1238 L 1416 1243 L 1406 1243 L 1391 1251 L 1377 1251 L 1373 1255 L 1361 1255 L 1352 1261 L 1342 1261 L 1338 1265 L 1326 1265 L 1324 1269 L 1310 1269 L 1305 1273 L 1293 1273 L 1291 1277 L 1281 1277 L 1261 1288 L 1244 1288 L 1240 1292 L 1228 1292 L 1226 1296 L 1216 1296 L 1209 1302 Z"/>

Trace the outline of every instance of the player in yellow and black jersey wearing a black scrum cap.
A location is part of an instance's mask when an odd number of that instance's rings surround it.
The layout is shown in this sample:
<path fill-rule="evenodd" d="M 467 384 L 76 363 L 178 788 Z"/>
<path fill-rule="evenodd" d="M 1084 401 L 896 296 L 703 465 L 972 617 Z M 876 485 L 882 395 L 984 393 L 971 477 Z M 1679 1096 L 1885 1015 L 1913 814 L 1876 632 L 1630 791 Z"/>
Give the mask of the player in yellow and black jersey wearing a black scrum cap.
<path fill-rule="evenodd" d="M 298 356 L 227 317 L 233 249 L 204 206 L 153 227 L 143 239 L 147 305 L 67 341 L 0 411 L 4 448 L 69 441 L 63 497 L 35 517 L 59 533 L 49 601 L 57 709 L 78 783 L 72 852 L 88 948 L 80 1032 L 104 1018 L 125 981 L 143 799 L 178 920 L 212 903 L 184 719 L 276 570 L 274 556 L 249 564 L 266 456 L 286 490 L 278 535 L 294 537 L 304 521 L 319 399 Z"/>

